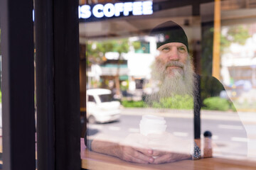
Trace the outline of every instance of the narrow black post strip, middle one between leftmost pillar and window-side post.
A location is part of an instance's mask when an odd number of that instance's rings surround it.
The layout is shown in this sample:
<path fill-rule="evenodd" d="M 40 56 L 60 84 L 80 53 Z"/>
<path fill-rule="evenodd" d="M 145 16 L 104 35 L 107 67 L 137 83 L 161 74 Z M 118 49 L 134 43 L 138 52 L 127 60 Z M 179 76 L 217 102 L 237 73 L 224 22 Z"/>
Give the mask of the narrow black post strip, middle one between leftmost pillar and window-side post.
<path fill-rule="evenodd" d="M 38 170 L 55 169 L 53 1 L 35 1 Z"/>

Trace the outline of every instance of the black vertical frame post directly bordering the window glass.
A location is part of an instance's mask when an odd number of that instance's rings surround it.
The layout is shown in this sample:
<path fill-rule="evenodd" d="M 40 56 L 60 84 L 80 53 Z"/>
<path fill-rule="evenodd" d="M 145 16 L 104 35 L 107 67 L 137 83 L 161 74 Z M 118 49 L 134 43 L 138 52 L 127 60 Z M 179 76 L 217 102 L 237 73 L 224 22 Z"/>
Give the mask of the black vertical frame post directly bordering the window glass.
<path fill-rule="evenodd" d="M 78 1 L 54 1 L 55 165 L 80 169 Z"/>

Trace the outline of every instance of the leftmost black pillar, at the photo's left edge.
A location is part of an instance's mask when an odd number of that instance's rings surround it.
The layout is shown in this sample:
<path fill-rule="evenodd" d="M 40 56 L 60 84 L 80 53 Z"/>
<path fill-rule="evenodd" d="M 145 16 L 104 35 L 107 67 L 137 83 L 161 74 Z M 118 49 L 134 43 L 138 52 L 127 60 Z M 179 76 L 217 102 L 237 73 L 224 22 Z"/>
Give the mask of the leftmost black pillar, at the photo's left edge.
<path fill-rule="evenodd" d="M 36 169 L 33 1 L 1 0 L 4 169 Z"/>

